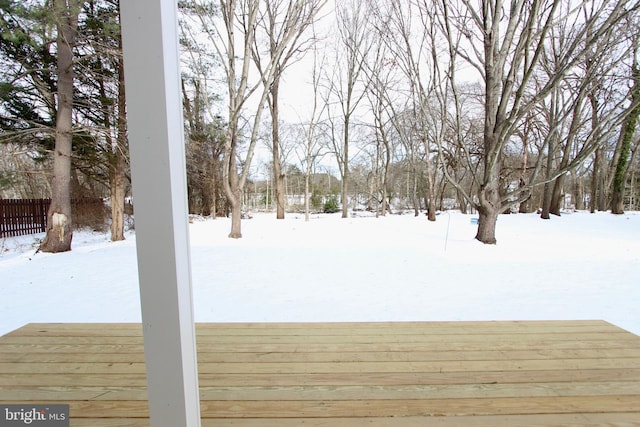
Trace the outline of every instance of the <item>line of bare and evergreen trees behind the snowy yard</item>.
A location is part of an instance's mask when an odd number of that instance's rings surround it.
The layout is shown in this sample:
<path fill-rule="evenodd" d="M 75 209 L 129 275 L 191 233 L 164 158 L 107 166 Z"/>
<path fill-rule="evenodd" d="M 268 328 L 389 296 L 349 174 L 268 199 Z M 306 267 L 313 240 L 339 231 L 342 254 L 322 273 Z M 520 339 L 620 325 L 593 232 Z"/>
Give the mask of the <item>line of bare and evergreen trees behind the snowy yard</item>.
<path fill-rule="evenodd" d="M 277 218 L 287 180 L 335 165 L 342 216 L 445 199 L 498 215 L 637 208 L 640 2 L 631 0 L 181 0 L 190 211 L 241 237 L 257 151 Z M 130 193 L 117 0 L 1 0 L 0 190 L 48 197 L 45 251 L 71 247 L 70 198 Z M 291 76 L 305 64 L 303 76 Z M 300 69 L 300 68 L 297 68 Z M 150 70 L 152 72 L 152 70 Z M 297 122 L 283 84 L 311 88 Z M 289 80 L 288 80 L 289 79 Z M 289 172 L 289 173 L 288 173 Z M 325 170 L 326 172 L 326 170 Z"/>

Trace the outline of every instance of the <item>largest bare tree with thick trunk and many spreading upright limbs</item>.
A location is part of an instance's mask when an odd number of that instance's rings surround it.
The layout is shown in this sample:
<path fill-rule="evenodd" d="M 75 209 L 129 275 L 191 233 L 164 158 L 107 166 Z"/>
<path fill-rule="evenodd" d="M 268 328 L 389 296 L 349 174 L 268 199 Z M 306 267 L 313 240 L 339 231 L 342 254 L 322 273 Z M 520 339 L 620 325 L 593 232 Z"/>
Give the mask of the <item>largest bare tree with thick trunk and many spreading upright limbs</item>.
<path fill-rule="evenodd" d="M 569 7 L 561 0 L 514 0 L 508 4 L 482 0 L 477 5 L 469 0 L 453 4 L 443 1 L 442 8 L 453 22 L 454 31 L 449 35 L 457 32 L 465 38 L 464 44 L 456 45 L 455 55 L 473 66 L 484 83 L 483 171 L 477 193 L 476 239 L 494 244 L 498 215 L 524 197 L 514 197 L 513 192 L 501 187 L 507 144 L 522 120 L 561 84 L 598 40 L 609 38 L 616 23 L 638 5 L 605 0 L 593 3 L 589 16 L 583 16 L 580 7 Z M 550 48 L 551 30 L 556 23 L 567 21 L 572 29 L 557 55 L 555 72 L 543 78 L 540 70 Z M 580 158 L 586 158 L 596 147 L 590 145 Z M 556 176 L 566 172 L 556 169 Z M 552 178 L 555 176 L 547 180 Z M 516 194 L 521 193 L 518 188 Z"/>

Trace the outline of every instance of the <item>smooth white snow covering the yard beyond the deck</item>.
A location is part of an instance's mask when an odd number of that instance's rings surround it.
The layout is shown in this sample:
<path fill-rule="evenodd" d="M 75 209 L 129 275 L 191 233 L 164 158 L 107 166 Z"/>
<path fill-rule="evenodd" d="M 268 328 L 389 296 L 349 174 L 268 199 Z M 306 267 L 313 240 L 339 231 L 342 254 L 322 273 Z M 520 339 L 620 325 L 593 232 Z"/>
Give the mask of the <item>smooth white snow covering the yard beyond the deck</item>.
<path fill-rule="evenodd" d="M 498 244 L 471 215 L 341 219 L 257 214 L 190 225 L 199 322 L 604 319 L 640 335 L 640 213 L 503 215 Z M 29 322 L 139 322 L 135 234 L 0 239 L 0 334 Z"/>

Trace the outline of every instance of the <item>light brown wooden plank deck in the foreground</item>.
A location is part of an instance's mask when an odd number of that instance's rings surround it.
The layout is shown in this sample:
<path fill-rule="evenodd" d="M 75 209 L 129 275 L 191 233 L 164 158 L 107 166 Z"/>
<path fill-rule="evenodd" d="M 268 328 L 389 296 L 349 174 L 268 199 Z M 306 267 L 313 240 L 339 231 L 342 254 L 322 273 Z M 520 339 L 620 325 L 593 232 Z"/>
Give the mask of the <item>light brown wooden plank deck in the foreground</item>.
<path fill-rule="evenodd" d="M 640 337 L 602 321 L 199 324 L 202 425 L 640 426 Z M 0 337 L 0 403 L 148 426 L 139 324 Z"/>

